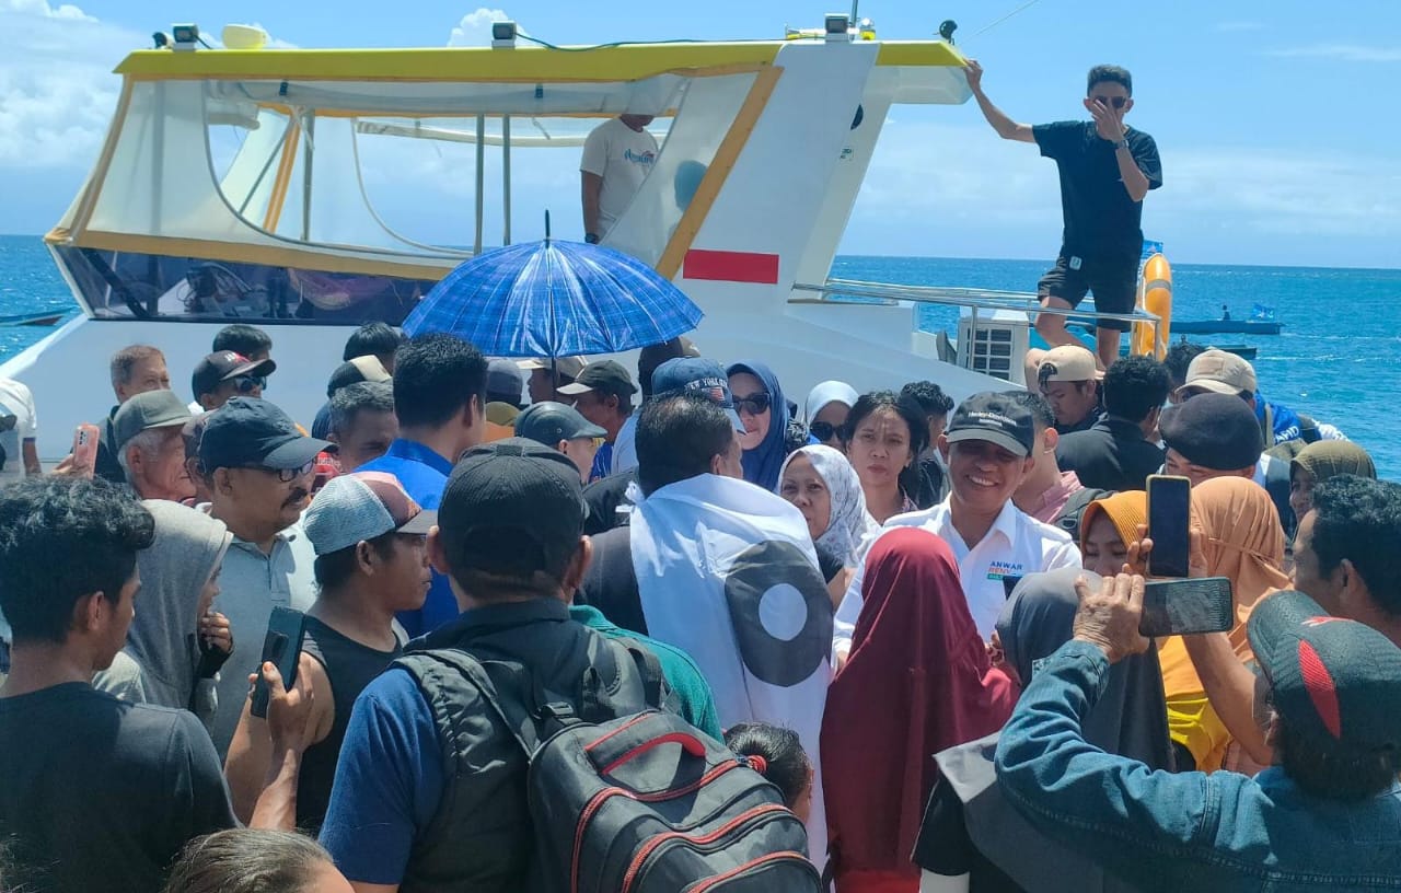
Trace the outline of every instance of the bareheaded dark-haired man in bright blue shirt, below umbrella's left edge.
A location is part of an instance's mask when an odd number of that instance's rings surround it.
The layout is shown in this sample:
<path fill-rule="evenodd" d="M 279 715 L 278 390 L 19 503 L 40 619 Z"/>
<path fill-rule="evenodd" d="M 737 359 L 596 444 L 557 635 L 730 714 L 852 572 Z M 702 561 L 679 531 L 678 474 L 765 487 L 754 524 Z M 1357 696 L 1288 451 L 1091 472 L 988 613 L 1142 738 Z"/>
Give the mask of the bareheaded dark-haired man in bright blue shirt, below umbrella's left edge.
<path fill-rule="evenodd" d="M 361 465 L 360 472 L 387 472 L 399 479 L 413 501 L 436 509 L 453 463 L 482 442 L 486 433 L 486 358 L 451 335 L 423 335 L 394 356 L 394 410 L 399 437 L 389 451 Z M 433 586 L 419 610 L 398 614 L 409 635 L 430 633 L 458 614 L 447 577 L 433 574 Z"/>

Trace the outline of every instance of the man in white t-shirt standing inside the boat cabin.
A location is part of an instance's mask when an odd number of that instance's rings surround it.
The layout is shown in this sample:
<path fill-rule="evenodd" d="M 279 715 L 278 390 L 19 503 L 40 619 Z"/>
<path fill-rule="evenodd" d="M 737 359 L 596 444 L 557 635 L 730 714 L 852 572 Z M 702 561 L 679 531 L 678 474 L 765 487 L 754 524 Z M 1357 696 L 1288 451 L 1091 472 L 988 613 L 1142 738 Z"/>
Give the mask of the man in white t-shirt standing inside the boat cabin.
<path fill-rule="evenodd" d="M 647 133 L 651 115 L 619 115 L 594 127 L 579 161 L 583 181 L 584 241 L 597 245 L 632 203 L 657 161 Z"/>

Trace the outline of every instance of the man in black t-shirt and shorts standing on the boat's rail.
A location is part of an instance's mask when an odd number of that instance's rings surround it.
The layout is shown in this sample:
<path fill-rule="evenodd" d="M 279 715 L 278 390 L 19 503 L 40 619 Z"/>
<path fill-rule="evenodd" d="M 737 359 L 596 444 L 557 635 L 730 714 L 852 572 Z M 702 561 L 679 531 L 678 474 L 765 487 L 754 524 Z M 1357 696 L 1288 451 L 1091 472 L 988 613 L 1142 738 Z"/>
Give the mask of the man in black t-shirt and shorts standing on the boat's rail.
<path fill-rule="evenodd" d="M 1061 172 L 1065 232 L 1055 267 L 1041 277 L 1041 307 L 1077 307 L 1087 291 L 1103 314 L 1128 314 L 1138 291 L 1143 251 L 1143 196 L 1163 185 L 1163 164 L 1153 137 L 1124 123 L 1133 108 L 1133 78 L 1118 66 L 1090 69 L 1084 108 L 1093 120 L 1019 125 L 982 91 L 982 66 L 965 66 L 984 118 L 1005 140 L 1035 143 Z M 1119 358 L 1119 333 L 1128 322 L 1101 319 L 1096 328 L 1100 365 Z M 1052 347 L 1075 344 L 1065 316 L 1041 314 L 1037 332 Z"/>

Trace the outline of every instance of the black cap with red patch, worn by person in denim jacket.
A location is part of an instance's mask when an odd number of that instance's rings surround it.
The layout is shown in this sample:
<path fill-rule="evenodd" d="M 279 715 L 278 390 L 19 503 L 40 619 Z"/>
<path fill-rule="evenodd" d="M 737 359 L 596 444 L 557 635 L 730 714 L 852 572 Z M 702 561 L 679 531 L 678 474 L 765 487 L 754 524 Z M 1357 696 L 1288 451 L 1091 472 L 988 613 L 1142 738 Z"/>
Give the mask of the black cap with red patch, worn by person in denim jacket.
<path fill-rule="evenodd" d="M 1245 631 L 1293 732 L 1339 756 L 1401 747 L 1401 648 L 1386 635 L 1290 589 L 1258 602 Z"/>

